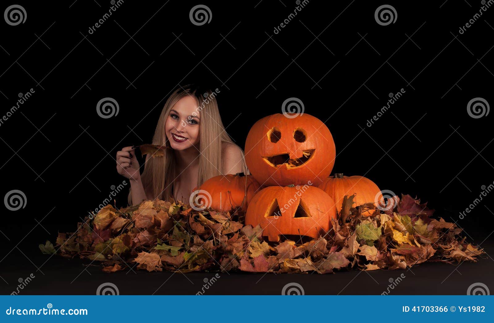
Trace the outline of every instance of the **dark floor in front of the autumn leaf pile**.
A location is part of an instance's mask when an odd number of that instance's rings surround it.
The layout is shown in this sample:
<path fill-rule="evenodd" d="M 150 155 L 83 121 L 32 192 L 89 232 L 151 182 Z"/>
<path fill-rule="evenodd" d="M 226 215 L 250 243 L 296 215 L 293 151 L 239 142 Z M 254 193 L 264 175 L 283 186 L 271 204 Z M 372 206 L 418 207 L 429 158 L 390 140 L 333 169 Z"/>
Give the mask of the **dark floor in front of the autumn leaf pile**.
<path fill-rule="evenodd" d="M 23 241 L 18 247 L 8 249 L 12 251 L 0 263 L 0 276 L 3 279 L 0 281 L 1 294 L 16 291 L 19 280 L 25 280 L 31 274 L 34 278 L 23 289 L 19 288 L 18 294 L 94 295 L 102 283 L 114 283 L 122 295 L 196 294 L 203 291 L 204 285 L 208 287 L 204 288 L 204 294 L 279 295 L 288 283 L 300 284 L 305 294 L 381 294 L 387 291 L 395 295 L 465 295 L 473 283 L 484 283 L 494 290 L 494 260 L 488 255 L 479 258 L 476 263 L 463 262 L 458 266 L 424 263 L 405 271 L 351 271 L 334 275 L 223 273 L 211 284 L 208 280 L 216 273 L 148 273 L 134 268 L 135 272 L 127 269 L 106 274 L 101 272 L 99 265 L 82 266 L 89 264 L 88 260 L 42 254 L 37 245 Z M 494 255 L 494 242 L 485 241 L 482 247 L 488 254 Z M 400 277 L 401 274 L 404 278 Z M 388 288 L 389 285 L 394 289 Z"/>

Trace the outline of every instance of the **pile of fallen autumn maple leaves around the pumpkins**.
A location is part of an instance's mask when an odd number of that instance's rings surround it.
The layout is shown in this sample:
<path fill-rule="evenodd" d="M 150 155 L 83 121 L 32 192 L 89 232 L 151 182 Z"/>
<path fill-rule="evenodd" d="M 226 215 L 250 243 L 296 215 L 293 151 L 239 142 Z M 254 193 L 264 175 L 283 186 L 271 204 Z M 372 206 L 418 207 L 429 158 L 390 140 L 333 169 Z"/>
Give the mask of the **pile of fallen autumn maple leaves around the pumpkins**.
<path fill-rule="evenodd" d="M 395 197 L 395 207 L 362 216 L 372 204 L 343 202 L 338 221 L 324 237 L 279 243 L 264 241 L 262 229 L 244 226 L 245 214 L 196 211 L 181 202 L 144 201 L 86 216 L 75 233 L 59 233 L 43 253 L 100 261 L 103 271 L 126 267 L 147 271 L 235 271 L 332 273 L 338 269 L 406 269 L 425 261 L 476 261 L 485 253 L 461 238 L 462 229 L 409 195 Z M 300 237 L 302 238 L 302 237 Z M 127 268 L 127 270 L 129 270 Z"/>

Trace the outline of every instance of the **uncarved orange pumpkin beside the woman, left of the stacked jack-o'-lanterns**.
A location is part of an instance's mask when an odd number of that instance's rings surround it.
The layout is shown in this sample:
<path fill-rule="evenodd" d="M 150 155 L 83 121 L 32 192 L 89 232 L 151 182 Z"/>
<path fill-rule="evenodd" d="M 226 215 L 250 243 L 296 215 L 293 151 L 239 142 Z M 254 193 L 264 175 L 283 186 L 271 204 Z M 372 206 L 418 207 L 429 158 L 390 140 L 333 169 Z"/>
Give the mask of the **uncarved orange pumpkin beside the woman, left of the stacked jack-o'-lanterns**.
<path fill-rule="evenodd" d="M 252 175 L 237 173 L 211 177 L 199 189 L 211 196 L 210 204 L 209 201 L 201 202 L 217 211 L 226 212 L 241 206 L 242 210 L 247 210 L 249 202 L 258 192 L 259 183 Z"/>

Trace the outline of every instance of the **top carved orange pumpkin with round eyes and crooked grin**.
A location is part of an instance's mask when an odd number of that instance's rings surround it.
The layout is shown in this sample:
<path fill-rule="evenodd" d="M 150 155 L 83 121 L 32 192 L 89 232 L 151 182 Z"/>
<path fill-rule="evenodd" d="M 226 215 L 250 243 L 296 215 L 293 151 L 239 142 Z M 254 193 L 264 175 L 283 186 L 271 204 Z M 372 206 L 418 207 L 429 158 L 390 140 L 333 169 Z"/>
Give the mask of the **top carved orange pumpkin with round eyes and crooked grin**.
<path fill-rule="evenodd" d="M 319 185 L 334 165 L 336 150 L 328 127 L 308 114 L 274 114 L 250 128 L 246 162 L 261 186 Z M 294 116 L 295 115 L 295 116 Z"/>

